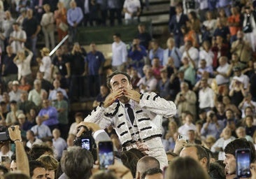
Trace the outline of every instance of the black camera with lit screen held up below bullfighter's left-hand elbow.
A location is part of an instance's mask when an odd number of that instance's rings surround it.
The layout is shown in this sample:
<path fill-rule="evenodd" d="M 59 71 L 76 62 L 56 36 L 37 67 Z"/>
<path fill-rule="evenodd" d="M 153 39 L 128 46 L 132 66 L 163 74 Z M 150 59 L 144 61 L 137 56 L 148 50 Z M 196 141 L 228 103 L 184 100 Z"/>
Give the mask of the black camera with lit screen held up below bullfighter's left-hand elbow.
<path fill-rule="evenodd" d="M 73 141 L 73 145 L 76 145 L 81 148 L 85 148 L 86 150 L 89 150 L 92 153 L 92 156 L 94 158 L 94 161 L 97 160 L 97 145 L 95 143 L 95 140 L 92 136 L 92 131 L 88 129 L 86 126 L 81 126 L 85 128 L 85 131 L 83 134 L 79 137 L 76 137 Z M 78 131 L 80 131 L 81 127 L 78 128 Z"/>

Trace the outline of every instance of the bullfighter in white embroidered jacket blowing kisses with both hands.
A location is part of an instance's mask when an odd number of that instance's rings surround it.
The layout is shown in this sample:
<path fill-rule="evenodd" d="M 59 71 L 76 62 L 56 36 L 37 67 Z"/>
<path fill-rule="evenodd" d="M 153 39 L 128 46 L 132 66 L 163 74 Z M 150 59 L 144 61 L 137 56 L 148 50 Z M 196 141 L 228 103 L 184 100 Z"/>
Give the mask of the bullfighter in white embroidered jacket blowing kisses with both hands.
<path fill-rule="evenodd" d="M 139 94 L 132 89 L 131 78 L 125 72 L 115 71 L 108 76 L 111 89 L 105 101 L 85 122 L 99 124 L 101 129 L 113 126 L 125 150 L 137 148 L 159 160 L 161 168 L 167 165 L 162 145 L 162 117 L 176 114 L 172 101 L 160 98 L 155 92 Z"/>

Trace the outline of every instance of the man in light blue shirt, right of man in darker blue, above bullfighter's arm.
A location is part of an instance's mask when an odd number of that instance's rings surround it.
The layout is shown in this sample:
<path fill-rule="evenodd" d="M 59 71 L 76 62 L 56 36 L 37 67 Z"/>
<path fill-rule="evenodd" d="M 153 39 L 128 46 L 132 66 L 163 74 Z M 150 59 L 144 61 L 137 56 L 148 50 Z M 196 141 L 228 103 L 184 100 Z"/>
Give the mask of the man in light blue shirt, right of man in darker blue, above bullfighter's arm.
<path fill-rule="evenodd" d="M 160 48 L 159 42 L 157 40 L 152 40 L 151 41 L 151 50 L 149 51 L 149 59 L 152 64 L 152 61 L 155 57 L 159 59 L 159 62 L 161 65 L 163 65 L 163 60 L 164 60 L 164 49 Z"/>

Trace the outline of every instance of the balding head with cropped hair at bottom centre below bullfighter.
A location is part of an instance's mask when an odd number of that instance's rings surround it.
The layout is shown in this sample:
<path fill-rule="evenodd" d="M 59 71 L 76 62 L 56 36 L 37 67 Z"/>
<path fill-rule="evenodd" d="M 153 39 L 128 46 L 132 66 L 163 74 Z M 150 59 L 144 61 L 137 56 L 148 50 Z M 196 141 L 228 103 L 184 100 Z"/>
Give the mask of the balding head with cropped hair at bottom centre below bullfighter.
<path fill-rule="evenodd" d="M 136 179 L 141 178 L 142 174 L 148 169 L 160 168 L 160 163 L 155 157 L 145 156 L 138 160 L 136 167 Z"/>

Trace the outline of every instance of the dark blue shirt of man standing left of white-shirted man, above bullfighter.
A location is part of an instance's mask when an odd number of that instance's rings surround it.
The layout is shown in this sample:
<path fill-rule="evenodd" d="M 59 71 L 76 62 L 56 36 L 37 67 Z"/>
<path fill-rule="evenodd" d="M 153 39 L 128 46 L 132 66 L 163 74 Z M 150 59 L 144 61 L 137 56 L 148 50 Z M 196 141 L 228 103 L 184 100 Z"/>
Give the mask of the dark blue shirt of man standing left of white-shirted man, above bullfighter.
<path fill-rule="evenodd" d="M 99 51 L 95 53 L 89 52 L 85 58 L 85 62 L 88 65 L 89 75 L 95 76 L 99 75 L 99 68 L 101 67 L 101 64 L 105 62 L 105 57 Z"/>

